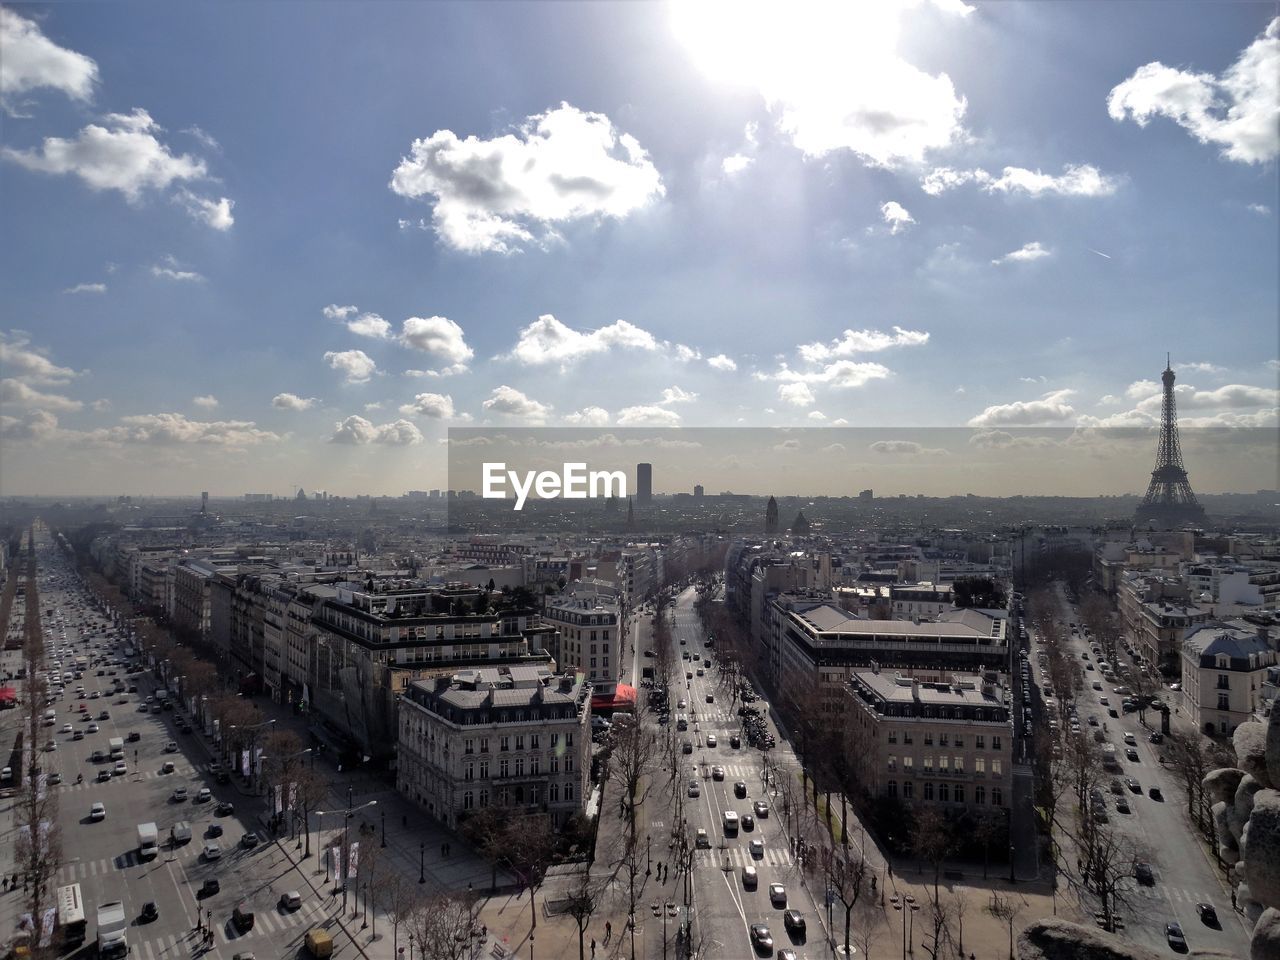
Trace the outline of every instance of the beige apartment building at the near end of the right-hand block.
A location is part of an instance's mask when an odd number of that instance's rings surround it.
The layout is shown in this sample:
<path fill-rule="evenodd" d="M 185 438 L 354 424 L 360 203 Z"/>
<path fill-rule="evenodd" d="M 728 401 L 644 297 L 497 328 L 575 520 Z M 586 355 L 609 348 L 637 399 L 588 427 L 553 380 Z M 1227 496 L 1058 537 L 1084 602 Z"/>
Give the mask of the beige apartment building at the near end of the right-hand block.
<path fill-rule="evenodd" d="M 860 782 L 873 796 L 975 814 L 1012 799 L 1014 726 L 995 675 L 922 682 L 881 669 L 845 687 Z"/>

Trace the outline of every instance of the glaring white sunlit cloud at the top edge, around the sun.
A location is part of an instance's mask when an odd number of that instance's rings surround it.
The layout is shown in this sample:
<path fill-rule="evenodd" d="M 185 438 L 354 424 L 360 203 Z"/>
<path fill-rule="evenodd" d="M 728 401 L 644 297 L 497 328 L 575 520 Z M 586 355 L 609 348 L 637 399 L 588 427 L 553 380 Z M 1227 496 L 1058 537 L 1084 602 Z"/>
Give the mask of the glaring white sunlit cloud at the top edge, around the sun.
<path fill-rule="evenodd" d="M 950 12 L 959 13 L 957 4 Z M 805 155 L 920 163 L 964 137 L 965 99 L 897 52 L 899 4 L 672 4 L 676 35 L 713 78 L 754 87 Z"/>

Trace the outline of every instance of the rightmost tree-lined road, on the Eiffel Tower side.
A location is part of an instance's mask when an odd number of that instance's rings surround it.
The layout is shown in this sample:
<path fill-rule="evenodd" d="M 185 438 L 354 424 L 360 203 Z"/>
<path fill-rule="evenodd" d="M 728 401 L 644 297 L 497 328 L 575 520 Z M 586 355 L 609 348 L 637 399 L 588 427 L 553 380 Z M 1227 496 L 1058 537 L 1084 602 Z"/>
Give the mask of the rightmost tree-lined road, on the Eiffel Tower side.
<path fill-rule="evenodd" d="M 1079 611 L 1061 591 L 1059 599 L 1065 622 L 1079 623 Z M 1071 636 L 1069 648 L 1071 655 L 1080 658 L 1082 663 L 1093 662 L 1083 659 L 1083 654 L 1093 658 L 1089 644 L 1083 636 Z M 1042 648 L 1038 643 L 1033 645 L 1033 653 L 1039 649 Z M 1124 657 L 1124 653 L 1120 655 Z M 1165 940 L 1165 924 L 1178 920 L 1190 950 L 1216 948 L 1236 956 L 1248 956 L 1249 931 L 1244 919 L 1231 909 L 1230 891 L 1221 879 L 1221 872 L 1213 861 L 1210 847 L 1189 826 L 1185 795 L 1176 774 L 1160 765 L 1161 748 L 1148 740 L 1156 727 L 1144 726 L 1137 713 L 1124 713 L 1120 709 L 1124 695 L 1115 692 L 1117 684 L 1103 682 L 1096 669 L 1085 671 L 1084 676 L 1085 690 L 1076 700 L 1084 735 L 1092 735 L 1093 730 L 1101 730 L 1102 724 L 1106 724 L 1106 739 L 1116 745 L 1119 756 L 1124 756 L 1125 733 L 1133 735 L 1135 741 L 1133 749 L 1138 753 L 1137 762 L 1125 759 L 1123 769 L 1112 771 L 1105 781 L 1105 785 L 1110 785 L 1111 777 L 1121 781 L 1133 777 L 1139 782 L 1140 794 L 1128 788 L 1123 792 L 1129 801 L 1130 814 L 1119 813 L 1115 809 L 1117 796 L 1107 792 L 1110 818 L 1111 823 L 1119 826 L 1143 851 L 1152 865 L 1156 881 L 1149 887 L 1133 881 L 1125 882 L 1129 905 L 1119 909 L 1125 922 L 1124 934 L 1143 946 L 1176 955 Z M 1093 690 L 1093 682 L 1102 684 L 1103 689 Z M 1107 703 L 1101 703 L 1102 699 Z M 1116 717 L 1108 716 L 1112 708 L 1116 710 Z M 1088 723 L 1091 716 L 1097 718 L 1097 727 Z M 1147 712 L 1148 723 L 1157 723 L 1158 716 Z M 1164 801 L 1149 796 L 1148 791 L 1153 786 L 1160 788 Z M 1221 929 L 1201 922 L 1196 910 L 1198 902 L 1213 905 L 1221 920 Z M 1085 899 L 1085 905 L 1091 910 L 1100 909 L 1092 895 Z"/>

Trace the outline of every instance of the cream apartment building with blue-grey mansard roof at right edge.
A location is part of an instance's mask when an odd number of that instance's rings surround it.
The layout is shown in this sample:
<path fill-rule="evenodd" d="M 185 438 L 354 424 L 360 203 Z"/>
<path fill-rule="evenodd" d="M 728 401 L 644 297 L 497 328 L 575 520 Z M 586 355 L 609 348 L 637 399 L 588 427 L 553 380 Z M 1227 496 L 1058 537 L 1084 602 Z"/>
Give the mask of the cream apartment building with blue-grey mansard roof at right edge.
<path fill-rule="evenodd" d="M 1268 627 L 1243 620 L 1212 621 L 1183 639 L 1183 692 L 1197 728 L 1230 735 L 1262 717 L 1276 652 Z"/>

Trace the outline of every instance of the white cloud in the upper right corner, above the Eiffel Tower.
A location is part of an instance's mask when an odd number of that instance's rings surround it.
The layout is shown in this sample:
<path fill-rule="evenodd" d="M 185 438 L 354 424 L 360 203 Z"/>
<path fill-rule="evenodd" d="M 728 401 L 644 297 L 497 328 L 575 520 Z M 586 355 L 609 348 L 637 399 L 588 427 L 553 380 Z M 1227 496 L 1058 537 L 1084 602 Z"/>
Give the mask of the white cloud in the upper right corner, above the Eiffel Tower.
<path fill-rule="evenodd" d="M 1220 77 L 1148 63 L 1107 96 L 1111 119 L 1146 127 L 1167 116 L 1228 160 L 1262 164 L 1280 156 L 1280 17 Z"/>

